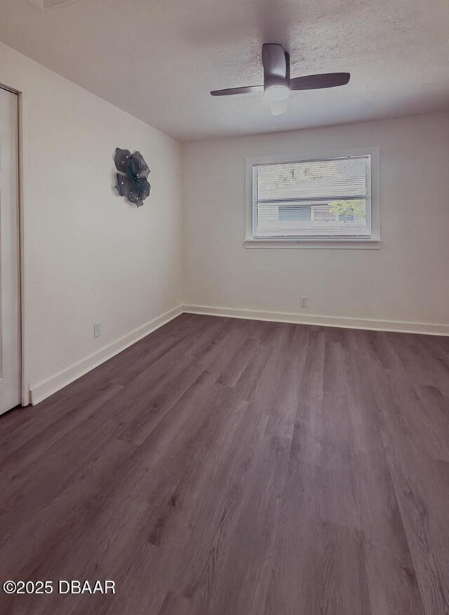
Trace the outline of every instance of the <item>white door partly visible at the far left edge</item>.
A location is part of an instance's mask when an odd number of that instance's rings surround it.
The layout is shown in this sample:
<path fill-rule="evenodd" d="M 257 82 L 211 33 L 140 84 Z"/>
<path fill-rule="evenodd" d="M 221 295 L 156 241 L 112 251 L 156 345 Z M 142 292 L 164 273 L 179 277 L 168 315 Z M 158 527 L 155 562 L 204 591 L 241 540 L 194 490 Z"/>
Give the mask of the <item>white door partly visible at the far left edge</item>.
<path fill-rule="evenodd" d="M 20 404 L 18 97 L 0 88 L 0 414 Z"/>

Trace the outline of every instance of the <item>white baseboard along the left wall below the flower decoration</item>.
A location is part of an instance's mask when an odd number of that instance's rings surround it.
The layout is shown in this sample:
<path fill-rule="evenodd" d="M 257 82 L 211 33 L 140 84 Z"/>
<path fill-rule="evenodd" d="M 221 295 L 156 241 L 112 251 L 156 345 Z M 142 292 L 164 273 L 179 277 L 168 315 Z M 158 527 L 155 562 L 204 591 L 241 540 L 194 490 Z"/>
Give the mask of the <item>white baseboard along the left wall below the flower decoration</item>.
<path fill-rule="evenodd" d="M 147 324 L 140 326 L 138 329 L 135 329 L 130 333 L 126 333 L 126 336 L 123 336 L 112 344 L 101 348 L 98 352 L 94 352 L 93 355 L 86 357 L 86 359 L 82 359 L 67 369 L 55 374 L 55 376 L 48 378 L 48 380 L 30 387 L 29 393 L 31 403 L 33 406 L 35 404 L 39 404 L 39 402 L 46 399 L 46 397 L 53 395 L 53 393 L 67 386 L 77 378 L 80 378 L 88 371 L 91 371 L 94 367 L 104 363 L 107 359 L 114 357 L 114 355 L 118 355 L 119 352 L 125 350 L 128 346 L 134 344 L 142 338 L 145 338 L 145 336 L 155 329 L 159 329 L 159 327 L 163 324 L 170 322 L 170 320 L 173 320 L 173 318 L 176 318 L 182 314 L 183 311 L 182 305 L 178 305 L 173 310 L 165 312 L 165 314 L 150 320 Z"/>

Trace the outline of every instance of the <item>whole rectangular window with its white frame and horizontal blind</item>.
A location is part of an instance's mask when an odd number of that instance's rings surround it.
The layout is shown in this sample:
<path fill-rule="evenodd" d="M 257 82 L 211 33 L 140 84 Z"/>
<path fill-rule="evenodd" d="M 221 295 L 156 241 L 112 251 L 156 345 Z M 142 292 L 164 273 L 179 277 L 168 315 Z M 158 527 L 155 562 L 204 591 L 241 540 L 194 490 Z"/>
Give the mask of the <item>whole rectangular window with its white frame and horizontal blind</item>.
<path fill-rule="evenodd" d="M 379 242 L 378 154 L 247 159 L 247 242 Z"/>

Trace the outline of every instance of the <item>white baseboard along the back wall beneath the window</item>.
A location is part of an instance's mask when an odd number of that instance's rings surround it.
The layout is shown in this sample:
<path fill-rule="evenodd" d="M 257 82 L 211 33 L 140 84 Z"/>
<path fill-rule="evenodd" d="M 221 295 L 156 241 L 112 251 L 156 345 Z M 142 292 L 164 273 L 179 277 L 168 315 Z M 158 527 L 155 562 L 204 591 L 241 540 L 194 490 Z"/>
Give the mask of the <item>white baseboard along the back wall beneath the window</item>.
<path fill-rule="evenodd" d="M 260 312 L 257 310 L 240 310 L 233 307 L 211 307 L 210 305 L 184 305 L 182 311 L 189 314 L 227 316 L 250 320 L 269 320 L 272 322 L 291 322 L 294 324 L 337 326 L 344 329 L 368 329 L 370 331 L 396 331 L 398 333 L 425 333 L 434 336 L 449 336 L 449 324 L 342 318 L 340 316 L 302 315 L 288 312 Z"/>

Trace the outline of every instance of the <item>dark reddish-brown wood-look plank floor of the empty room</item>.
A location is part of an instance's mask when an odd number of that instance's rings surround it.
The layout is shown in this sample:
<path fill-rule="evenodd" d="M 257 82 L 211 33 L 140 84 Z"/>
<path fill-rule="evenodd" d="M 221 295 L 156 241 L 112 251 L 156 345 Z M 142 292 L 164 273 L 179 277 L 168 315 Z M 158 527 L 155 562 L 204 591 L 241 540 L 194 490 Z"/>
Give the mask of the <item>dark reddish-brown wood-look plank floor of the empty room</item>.
<path fill-rule="evenodd" d="M 448 615 L 449 338 L 182 315 L 0 418 L 2 614 Z"/>

